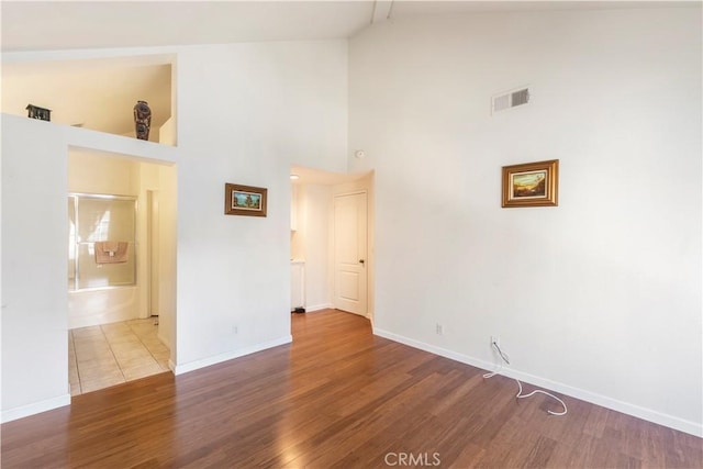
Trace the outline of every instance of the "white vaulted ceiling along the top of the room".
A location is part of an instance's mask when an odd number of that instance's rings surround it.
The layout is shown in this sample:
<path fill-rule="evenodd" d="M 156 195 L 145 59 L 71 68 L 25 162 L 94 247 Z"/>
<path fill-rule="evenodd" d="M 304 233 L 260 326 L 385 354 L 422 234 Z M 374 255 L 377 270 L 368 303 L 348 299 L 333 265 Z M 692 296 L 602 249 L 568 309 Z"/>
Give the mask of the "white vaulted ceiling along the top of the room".
<path fill-rule="evenodd" d="M 656 1 L 2 1 L 2 51 L 349 37 L 387 19 L 643 8 Z"/>

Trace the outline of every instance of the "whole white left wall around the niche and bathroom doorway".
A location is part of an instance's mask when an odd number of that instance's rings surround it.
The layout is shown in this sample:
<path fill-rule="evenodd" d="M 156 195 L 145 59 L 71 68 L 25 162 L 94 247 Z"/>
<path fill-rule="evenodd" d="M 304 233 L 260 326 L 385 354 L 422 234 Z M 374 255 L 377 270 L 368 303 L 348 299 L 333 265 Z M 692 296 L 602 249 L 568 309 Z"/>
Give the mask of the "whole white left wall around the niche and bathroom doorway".
<path fill-rule="evenodd" d="M 70 399 L 69 146 L 178 165 L 159 168 L 159 190 L 172 202 L 160 211 L 160 305 L 176 315 L 161 321 L 159 334 L 176 372 L 290 340 L 288 171 L 293 158 L 330 171 L 346 167 L 346 42 L 29 56 L 158 53 L 177 55 L 177 148 L 2 115 L 3 421 Z M 225 216 L 225 182 L 268 188 L 268 216 Z M 165 231 L 172 237 L 164 239 Z"/>

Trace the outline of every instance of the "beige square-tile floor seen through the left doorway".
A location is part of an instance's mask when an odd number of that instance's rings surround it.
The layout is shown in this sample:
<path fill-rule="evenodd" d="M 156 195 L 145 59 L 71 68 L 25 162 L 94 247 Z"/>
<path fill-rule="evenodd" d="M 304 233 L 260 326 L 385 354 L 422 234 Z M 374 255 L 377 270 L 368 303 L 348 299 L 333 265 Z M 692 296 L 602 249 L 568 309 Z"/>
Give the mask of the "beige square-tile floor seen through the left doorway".
<path fill-rule="evenodd" d="M 70 394 L 168 371 L 170 351 L 157 331 L 154 319 L 68 331 Z"/>

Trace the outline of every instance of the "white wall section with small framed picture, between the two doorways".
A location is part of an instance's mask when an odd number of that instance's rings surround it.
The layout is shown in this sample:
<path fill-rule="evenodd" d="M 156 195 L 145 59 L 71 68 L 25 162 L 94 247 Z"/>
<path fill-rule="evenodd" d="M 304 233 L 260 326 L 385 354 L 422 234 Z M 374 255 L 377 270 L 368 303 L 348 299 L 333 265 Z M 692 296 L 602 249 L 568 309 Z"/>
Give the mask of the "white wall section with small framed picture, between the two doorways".
<path fill-rule="evenodd" d="M 289 168 L 346 167 L 346 51 L 179 52 L 177 372 L 290 340 Z M 225 182 L 267 188 L 268 215 L 224 215 Z"/>

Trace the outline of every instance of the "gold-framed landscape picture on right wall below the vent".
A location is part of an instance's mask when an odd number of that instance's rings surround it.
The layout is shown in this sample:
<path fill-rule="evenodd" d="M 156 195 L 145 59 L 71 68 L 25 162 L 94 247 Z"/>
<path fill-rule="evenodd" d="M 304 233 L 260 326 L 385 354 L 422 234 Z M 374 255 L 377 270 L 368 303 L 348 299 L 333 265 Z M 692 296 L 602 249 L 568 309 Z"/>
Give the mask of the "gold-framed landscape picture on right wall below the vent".
<path fill-rule="evenodd" d="M 556 206 L 559 160 L 503 166 L 503 206 Z"/>

